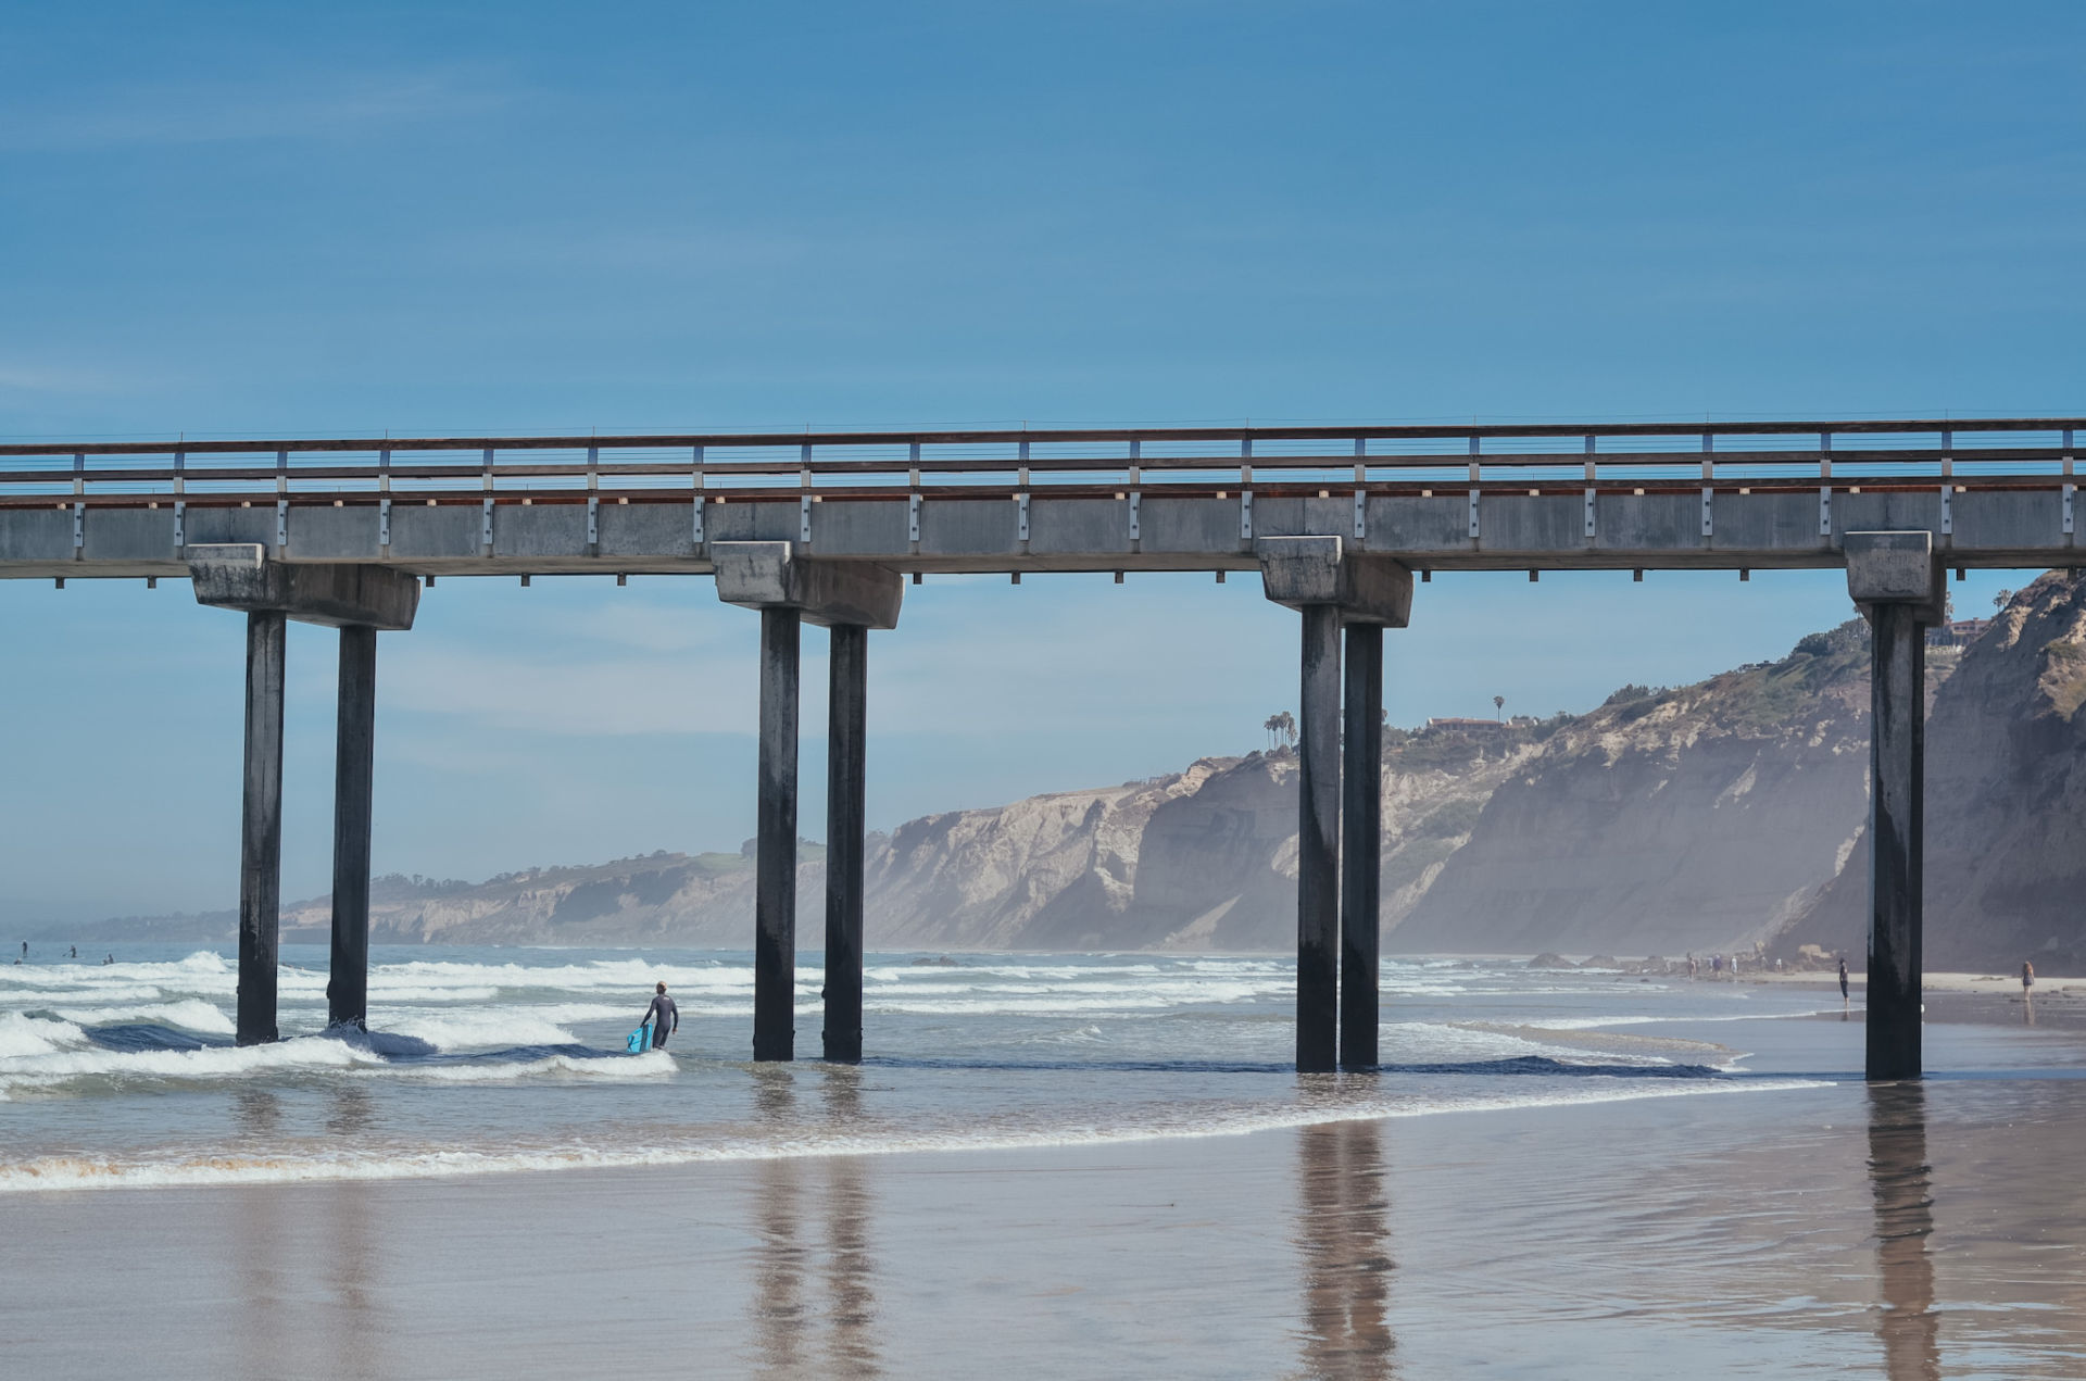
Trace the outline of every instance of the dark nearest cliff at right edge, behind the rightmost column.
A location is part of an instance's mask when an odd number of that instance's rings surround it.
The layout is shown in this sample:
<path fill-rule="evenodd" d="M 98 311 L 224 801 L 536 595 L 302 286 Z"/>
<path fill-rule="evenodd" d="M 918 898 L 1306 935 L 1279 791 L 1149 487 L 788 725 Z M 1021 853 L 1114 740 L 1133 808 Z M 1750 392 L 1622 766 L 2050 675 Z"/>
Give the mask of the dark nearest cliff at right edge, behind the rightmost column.
<path fill-rule="evenodd" d="M 2013 597 L 1940 686 L 1927 718 L 1930 970 L 2086 972 L 2086 574 Z M 1867 949 L 1861 841 L 1779 953 Z"/>

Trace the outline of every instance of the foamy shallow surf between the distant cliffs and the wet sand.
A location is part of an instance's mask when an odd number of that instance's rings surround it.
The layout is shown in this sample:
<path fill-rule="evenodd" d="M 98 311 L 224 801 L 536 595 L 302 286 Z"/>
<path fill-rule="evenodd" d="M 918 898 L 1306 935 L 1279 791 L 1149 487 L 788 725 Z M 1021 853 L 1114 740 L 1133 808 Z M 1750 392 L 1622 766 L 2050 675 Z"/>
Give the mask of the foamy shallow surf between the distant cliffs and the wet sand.
<path fill-rule="evenodd" d="M 1809 991 L 1387 962 L 1396 1079 L 1316 1089 L 1289 1070 L 1285 960 L 918 958 L 866 968 L 870 1060 L 847 1114 L 780 1118 L 743 1060 L 753 991 L 738 953 L 380 949 L 371 1035 L 340 1039 L 321 1033 L 323 951 L 290 947 L 288 1039 L 250 1049 L 229 1043 L 225 953 L 8 966 L 0 1191 L 1078 1145 L 1765 1093 L 1802 1079 L 1763 1076 L 1748 1049 L 1821 1010 Z M 797 1028 L 811 1058 L 807 960 Z M 657 980 L 682 1028 L 668 1051 L 628 1056 Z M 1700 1026 L 1713 1033 L 1683 1033 Z M 1825 1068 L 1852 1058 L 1834 1049 Z"/>

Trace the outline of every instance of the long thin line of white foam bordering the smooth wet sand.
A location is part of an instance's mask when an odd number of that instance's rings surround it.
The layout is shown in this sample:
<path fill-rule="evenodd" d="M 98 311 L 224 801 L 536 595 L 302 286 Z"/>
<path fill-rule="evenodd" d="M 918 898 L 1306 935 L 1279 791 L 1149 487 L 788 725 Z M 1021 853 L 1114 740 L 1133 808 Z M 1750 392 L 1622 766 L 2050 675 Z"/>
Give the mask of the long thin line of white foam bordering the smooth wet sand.
<path fill-rule="evenodd" d="M 601 1064 L 638 1064 L 647 1060 L 607 1060 Z M 578 1062 L 584 1064 L 584 1062 Z M 1197 1122 L 1129 1122 L 1116 1126 L 1041 1126 L 1022 1131 L 945 1131 L 926 1135 L 870 1133 L 834 1135 L 805 1133 L 797 1137 L 722 1137 L 649 1147 L 630 1145 L 542 1145 L 532 1149 L 488 1147 L 421 1147 L 357 1152 L 284 1152 L 277 1156 L 42 1156 L 13 1166 L 0 1166 L 0 1193 L 50 1189 L 161 1189 L 181 1185 L 282 1185 L 305 1181 L 380 1181 L 436 1179 L 465 1174 L 503 1174 L 538 1170 L 582 1170 L 617 1166 L 676 1166 L 703 1162 L 795 1160 L 807 1156 L 891 1156 L 922 1152 L 1010 1152 L 1076 1145 L 1112 1145 L 1166 1139 L 1239 1137 L 1258 1131 L 1354 1122 L 1377 1118 L 1416 1118 L 1454 1112 L 1502 1112 L 1514 1108 L 1560 1108 L 1585 1104 L 1635 1101 L 1652 1097 L 1688 1097 L 1713 1093 L 1769 1093 L 1786 1089 L 1829 1087 L 1827 1081 L 1761 1081 L 1663 1087 L 1569 1089 L 1496 1097 L 1435 1097 L 1406 1101 L 1366 1101 L 1343 1108 L 1241 1108 Z"/>

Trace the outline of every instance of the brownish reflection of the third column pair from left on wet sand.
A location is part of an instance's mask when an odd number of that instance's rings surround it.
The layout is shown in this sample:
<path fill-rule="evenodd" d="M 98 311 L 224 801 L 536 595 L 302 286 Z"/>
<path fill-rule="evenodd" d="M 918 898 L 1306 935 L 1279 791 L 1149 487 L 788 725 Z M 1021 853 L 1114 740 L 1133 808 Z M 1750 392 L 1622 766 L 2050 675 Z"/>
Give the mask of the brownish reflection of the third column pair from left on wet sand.
<path fill-rule="evenodd" d="M 1297 1135 L 1304 1375 L 1391 1375 L 1383 1124 L 1320 1122 Z"/>

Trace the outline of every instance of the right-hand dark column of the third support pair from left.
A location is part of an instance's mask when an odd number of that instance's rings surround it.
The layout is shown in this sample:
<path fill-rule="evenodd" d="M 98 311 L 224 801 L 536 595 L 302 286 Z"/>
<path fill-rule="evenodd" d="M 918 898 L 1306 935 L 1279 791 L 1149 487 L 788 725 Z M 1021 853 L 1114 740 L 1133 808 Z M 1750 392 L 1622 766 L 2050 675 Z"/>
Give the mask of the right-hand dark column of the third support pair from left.
<path fill-rule="evenodd" d="M 1377 1068 L 1383 859 L 1383 628 L 1348 626 L 1339 801 L 1339 1068 Z"/>

